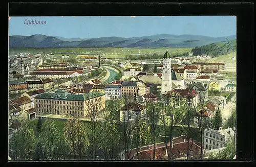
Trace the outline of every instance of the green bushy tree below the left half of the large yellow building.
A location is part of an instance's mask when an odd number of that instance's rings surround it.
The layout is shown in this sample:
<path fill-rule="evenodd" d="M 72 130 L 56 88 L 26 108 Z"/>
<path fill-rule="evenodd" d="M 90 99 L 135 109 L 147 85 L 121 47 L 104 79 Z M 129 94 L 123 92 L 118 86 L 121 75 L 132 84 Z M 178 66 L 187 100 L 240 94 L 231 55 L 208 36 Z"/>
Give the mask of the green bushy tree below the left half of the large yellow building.
<path fill-rule="evenodd" d="M 56 158 L 57 149 L 59 147 L 60 132 L 57 130 L 54 120 L 47 119 L 42 124 L 42 131 L 39 134 L 39 142 L 44 149 L 45 157 L 49 160 Z"/>

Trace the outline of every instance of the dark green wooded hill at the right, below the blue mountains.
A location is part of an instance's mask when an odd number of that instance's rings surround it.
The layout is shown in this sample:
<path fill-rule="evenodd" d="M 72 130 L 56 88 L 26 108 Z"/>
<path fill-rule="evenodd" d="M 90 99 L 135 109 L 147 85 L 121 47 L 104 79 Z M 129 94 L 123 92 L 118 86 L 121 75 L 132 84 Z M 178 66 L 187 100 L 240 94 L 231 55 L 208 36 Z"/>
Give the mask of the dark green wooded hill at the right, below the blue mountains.
<path fill-rule="evenodd" d="M 210 57 L 218 57 L 237 51 L 237 40 L 229 40 L 227 42 L 211 43 L 203 46 L 195 47 L 191 50 L 193 56 L 207 55 Z"/>

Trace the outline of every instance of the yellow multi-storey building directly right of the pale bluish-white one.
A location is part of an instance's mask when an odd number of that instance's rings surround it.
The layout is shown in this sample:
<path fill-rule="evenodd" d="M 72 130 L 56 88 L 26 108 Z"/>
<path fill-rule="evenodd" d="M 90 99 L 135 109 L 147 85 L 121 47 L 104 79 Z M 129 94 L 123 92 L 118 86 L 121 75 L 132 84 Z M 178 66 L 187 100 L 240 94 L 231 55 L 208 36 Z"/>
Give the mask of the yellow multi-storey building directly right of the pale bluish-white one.
<path fill-rule="evenodd" d="M 121 93 L 122 97 L 124 94 L 135 96 L 136 93 L 137 96 L 143 96 L 146 93 L 145 84 L 140 81 L 123 81 L 121 85 Z"/>

